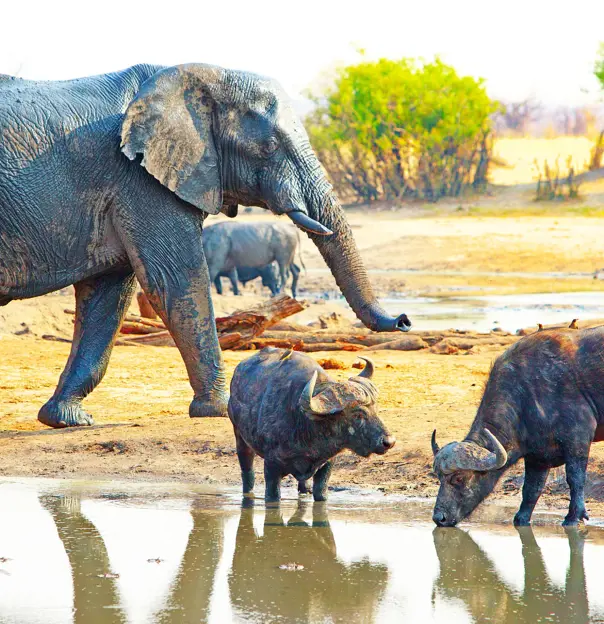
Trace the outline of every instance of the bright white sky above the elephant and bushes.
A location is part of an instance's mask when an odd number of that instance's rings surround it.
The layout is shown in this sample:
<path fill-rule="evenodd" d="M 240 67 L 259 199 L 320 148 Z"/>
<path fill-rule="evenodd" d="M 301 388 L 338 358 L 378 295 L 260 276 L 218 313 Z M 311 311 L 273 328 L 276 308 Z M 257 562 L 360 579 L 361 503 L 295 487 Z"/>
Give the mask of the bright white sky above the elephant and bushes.
<path fill-rule="evenodd" d="M 277 78 L 299 100 L 322 72 L 440 55 L 492 96 L 601 101 L 592 69 L 604 0 L 11 0 L 0 72 L 58 79 L 139 62 L 205 62 Z"/>

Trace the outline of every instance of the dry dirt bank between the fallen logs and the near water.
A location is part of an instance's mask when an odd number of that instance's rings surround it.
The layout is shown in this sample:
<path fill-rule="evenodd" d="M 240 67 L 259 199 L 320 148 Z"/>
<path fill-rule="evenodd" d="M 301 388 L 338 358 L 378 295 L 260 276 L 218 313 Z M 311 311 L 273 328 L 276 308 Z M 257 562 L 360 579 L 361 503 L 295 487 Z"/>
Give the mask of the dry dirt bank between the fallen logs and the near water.
<path fill-rule="evenodd" d="M 53 431 L 36 420 L 50 396 L 69 345 L 26 337 L 0 340 L 0 474 L 101 479 L 178 480 L 238 485 L 239 468 L 227 419 L 189 419 L 191 391 L 178 352 L 161 347 L 117 347 L 107 376 L 86 401 L 98 427 Z M 375 488 L 386 493 L 434 496 L 430 434 L 441 442 L 461 439 L 474 416 L 483 383 L 501 348 L 474 355 L 373 352 L 381 414 L 397 437 L 383 457 L 338 458 L 332 485 Z M 229 376 L 249 352 L 225 354 Z M 334 357 L 313 354 L 314 357 Z M 356 374 L 354 354 L 335 355 Z M 261 460 L 258 461 L 262 492 Z M 604 445 L 594 445 L 590 463 L 590 509 L 604 515 Z M 516 497 L 518 470 L 499 487 L 499 497 Z M 561 474 L 553 475 L 544 503 L 567 505 Z M 556 480 L 557 477 L 557 480 Z"/>

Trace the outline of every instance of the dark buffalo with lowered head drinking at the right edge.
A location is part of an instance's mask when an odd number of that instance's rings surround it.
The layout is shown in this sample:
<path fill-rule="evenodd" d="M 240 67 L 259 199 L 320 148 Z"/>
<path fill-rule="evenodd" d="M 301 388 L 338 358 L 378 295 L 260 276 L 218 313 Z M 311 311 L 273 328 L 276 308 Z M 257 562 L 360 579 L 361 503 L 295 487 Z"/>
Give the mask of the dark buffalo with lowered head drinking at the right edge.
<path fill-rule="evenodd" d="M 585 473 L 592 442 L 604 439 L 604 327 L 553 329 L 523 338 L 495 362 L 470 432 L 442 449 L 432 434 L 440 489 L 433 519 L 455 526 L 524 458 L 522 504 L 530 523 L 550 468 L 566 465 L 570 506 L 563 524 L 588 519 Z"/>

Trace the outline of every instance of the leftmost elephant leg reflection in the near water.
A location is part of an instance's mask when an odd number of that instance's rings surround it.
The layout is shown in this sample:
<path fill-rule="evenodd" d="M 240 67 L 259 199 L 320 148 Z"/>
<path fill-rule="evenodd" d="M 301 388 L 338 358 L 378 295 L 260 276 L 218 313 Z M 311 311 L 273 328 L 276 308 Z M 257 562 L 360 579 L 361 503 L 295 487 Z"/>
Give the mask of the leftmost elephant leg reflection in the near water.
<path fill-rule="evenodd" d="M 96 527 L 82 515 L 79 497 L 41 496 L 40 503 L 55 522 L 71 566 L 74 624 L 125 622 L 115 582 L 99 578 L 111 570 L 109 556 Z"/>

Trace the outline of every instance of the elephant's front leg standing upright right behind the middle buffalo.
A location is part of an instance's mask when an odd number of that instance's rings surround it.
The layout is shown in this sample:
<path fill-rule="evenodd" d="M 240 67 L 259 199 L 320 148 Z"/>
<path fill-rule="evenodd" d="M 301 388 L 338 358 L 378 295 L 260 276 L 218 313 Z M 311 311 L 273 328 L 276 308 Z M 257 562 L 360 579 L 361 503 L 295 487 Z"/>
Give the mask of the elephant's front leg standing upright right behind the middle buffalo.
<path fill-rule="evenodd" d="M 166 213 L 167 215 L 168 213 Z M 201 243 L 202 218 L 186 207 L 123 231 L 136 276 L 170 330 L 193 387 L 189 415 L 226 416 L 228 394 Z M 164 220 L 165 219 L 165 220 Z"/>

